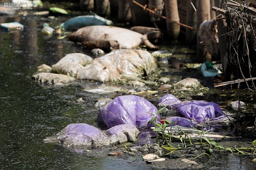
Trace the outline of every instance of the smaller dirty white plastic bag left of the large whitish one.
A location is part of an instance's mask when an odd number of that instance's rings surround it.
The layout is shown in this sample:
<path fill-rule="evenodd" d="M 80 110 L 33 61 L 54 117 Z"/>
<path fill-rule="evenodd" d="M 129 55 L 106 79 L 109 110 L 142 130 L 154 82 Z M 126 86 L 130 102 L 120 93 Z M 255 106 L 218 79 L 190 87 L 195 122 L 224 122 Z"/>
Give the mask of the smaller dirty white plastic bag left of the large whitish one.
<path fill-rule="evenodd" d="M 70 53 L 52 66 L 57 73 L 75 77 L 79 70 L 89 64 L 92 57 L 82 53 Z"/>

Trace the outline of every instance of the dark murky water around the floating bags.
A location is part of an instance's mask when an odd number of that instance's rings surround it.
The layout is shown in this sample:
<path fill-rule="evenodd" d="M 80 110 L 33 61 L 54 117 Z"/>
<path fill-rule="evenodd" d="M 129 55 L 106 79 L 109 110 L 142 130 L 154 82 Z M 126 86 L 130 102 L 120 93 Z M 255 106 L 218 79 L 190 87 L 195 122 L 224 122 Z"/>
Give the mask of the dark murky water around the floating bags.
<path fill-rule="evenodd" d="M 78 153 L 57 144 L 43 143 L 44 138 L 71 123 L 97 126 L 95 102 L 102 97 L 113 97 L 84 92 L 76 85 L 43 88 L 31 79 L 41 64 L 52 65 L 68 53 L 86 52 L 66 39 L 46 38 L 41 33 L 44 22 L 54 27 L 65 19 L 50 20 L 33 15 L 0 16 L 1 23 L 17 21 L 25 26 L 23 31 L 0 32 L 0 169 L 188 168 L 148 165 L 139 154 L 123 154 L 121 157 L 105 154 L 120 151 L 115 147 Z M 86 100 L 85 104 L 73 103 L 80 97 Z M 256 167 L 252 159 L 252 156 L 216 153 L 209 160 L 201 160 L 204 164 L 199 169 L 252 170 Z"/>

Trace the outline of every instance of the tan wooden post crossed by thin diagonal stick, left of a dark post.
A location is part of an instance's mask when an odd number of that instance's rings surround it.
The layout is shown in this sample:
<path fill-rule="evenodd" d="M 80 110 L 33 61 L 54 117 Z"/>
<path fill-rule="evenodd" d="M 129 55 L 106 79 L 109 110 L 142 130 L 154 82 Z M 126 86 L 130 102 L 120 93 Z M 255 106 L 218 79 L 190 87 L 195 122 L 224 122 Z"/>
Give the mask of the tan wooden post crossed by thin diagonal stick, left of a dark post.
<path fill-rule="evenodd" d="M 178 4 L 177 0 L 165 0 L 165 15 L 171 21 L 180 22 L 180 17 L 178 15 Z M 174 22 L 166 20 L 168 37 L 171 40 L 176 41 L 178 35 L 180 34 L 180 25 Z"/>

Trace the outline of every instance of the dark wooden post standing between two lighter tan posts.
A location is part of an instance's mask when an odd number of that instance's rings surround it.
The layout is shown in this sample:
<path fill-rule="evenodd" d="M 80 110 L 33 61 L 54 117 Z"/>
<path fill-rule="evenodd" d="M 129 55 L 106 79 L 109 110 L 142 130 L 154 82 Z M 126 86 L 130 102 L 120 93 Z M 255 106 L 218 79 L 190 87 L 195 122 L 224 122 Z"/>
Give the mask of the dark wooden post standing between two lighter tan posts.
<path fill-rule="evenodd" d="M 187 19 L 186 24 L 193 28 L 197 28 L 196 0 L 187 0 Z M 186 43 L 190 46 L 197 42 L 196 30 L 186 28 Z"/>

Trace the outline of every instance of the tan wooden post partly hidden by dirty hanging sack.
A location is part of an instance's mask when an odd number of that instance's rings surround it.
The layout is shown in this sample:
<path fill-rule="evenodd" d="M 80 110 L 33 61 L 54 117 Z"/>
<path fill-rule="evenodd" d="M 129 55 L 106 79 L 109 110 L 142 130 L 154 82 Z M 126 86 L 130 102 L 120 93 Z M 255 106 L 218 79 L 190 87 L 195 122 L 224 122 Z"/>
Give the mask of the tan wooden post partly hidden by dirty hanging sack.
<path fill-rule="evenodd" d="M 212 60 L 211 55 L 208 53 L 203 43 L 201 43 L 202 40 L 198 35 L 199 27 L 205 20 L 210 20 L 210 1 L 199 0 L 197 4 L 197 56 L 201 62 Z"/>

